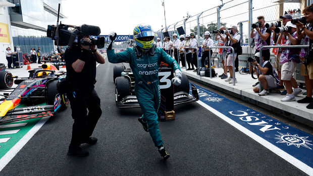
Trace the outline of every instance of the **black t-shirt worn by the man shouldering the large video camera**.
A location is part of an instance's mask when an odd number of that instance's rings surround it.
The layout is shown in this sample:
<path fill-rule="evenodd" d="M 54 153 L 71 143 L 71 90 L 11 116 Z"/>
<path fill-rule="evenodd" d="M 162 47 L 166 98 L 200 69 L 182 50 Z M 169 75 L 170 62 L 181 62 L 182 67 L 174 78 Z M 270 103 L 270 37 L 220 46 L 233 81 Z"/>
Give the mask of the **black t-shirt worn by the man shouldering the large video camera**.
<path fill-rule="evenodd" d="M 73 47 L 65 52 L 66 80 L 73 89 L 93 89 L 96 76 L 95 56 L 85 49 Z M 72 64 L 79 58 L 85 60 L 85 65 L 80 73 L 74 71 Z"/>

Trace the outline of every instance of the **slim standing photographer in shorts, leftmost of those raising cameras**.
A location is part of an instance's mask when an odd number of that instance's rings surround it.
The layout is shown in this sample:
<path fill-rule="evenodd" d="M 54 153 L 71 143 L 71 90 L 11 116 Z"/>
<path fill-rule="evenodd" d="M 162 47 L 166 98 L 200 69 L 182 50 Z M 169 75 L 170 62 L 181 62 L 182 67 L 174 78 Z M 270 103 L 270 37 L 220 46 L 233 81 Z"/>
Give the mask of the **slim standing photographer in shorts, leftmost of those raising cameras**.
<path fill-rule="evenodd" d="M 222 26 L 220 28 L 220 31 L 221 30 L 226 30 L 226 27 L 225 26 Z M 218 46 L 225 46 L 225 43 L 226 43 L 226 35 L 225 34 L 221 34 L 220 32 L 216 33 L 217 35 L 215 35 L 215 40 L 216 41 L 219 41 L 218 43 Z M 223 64 L 223 70 L 224 70 L 224 73 L 222 75 L 220 75 L 219 77 L 221 79 L 226 79 L 228 76 L 227 76 L 227 69 L 226 69 L 226 63 L 225 63 L 225 57 L 226 57 L 226 49 L 223 49 L 223 48 L 219 48 L 219 56 L 220 56 L 220 60 Z"/>

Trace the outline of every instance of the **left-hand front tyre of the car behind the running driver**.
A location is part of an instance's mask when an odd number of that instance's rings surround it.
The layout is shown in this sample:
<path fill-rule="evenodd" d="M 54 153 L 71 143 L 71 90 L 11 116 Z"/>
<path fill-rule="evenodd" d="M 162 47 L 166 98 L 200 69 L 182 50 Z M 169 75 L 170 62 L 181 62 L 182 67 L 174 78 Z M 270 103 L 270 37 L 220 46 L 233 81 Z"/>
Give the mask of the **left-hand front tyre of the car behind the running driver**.
<path fill-rule="evenodd" d="M 130 81 L 126 77 L 117 77 L 115 81 L 115 93 L 119 102 L 126 95 L 131 95 Z"/>

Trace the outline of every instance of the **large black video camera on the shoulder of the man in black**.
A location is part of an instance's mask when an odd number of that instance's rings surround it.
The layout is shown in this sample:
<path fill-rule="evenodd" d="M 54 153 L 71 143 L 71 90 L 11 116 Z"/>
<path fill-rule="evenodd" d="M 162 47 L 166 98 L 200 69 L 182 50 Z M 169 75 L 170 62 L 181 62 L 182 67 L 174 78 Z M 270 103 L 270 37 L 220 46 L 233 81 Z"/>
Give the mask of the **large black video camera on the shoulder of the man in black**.
<path fill-rule="evenodd" d="M 70 29 L 69 29 L 70 28 Z M 47 37 L 55 40 L 55 45 L 72 47 L 73 43 L 82 45 L 97 45 L 97 48 L 105 47 L 105 37 L 90 38 L 91 43 L 82 41 L 83 36 L 100 35 L 98 26 L 83 24 L 81 26 L 73 26 L 61 24 L 58 26 L 48 25 Z"/>

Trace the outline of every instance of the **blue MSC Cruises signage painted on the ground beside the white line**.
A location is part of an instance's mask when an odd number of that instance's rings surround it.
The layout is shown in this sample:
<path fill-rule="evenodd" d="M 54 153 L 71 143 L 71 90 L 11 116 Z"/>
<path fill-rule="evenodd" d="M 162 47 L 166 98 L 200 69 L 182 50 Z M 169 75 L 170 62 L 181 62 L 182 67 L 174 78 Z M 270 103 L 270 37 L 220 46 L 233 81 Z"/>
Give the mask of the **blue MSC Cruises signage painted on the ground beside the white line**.
<path fill-rule="evenodd" d="M 227 118 L 313 167 L 313 136 L 195 85 L 199 100 Z"/>

